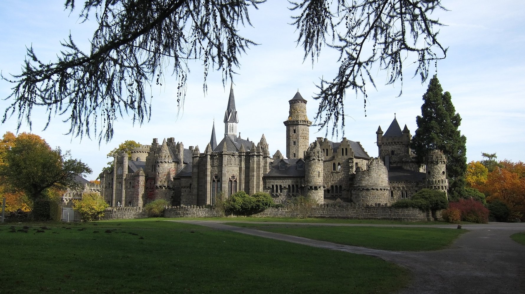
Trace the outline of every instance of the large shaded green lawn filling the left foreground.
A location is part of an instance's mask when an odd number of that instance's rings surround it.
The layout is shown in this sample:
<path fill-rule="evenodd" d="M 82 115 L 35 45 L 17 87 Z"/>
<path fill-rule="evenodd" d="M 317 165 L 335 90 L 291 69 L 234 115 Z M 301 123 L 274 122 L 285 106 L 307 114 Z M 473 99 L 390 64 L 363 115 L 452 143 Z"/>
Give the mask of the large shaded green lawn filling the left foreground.
<path fill-rule="evenodd" d="M 0 254 L 1 293 L 388 293 L 409 279 L 370 256 L 155 219 L 0 225 Z"/>

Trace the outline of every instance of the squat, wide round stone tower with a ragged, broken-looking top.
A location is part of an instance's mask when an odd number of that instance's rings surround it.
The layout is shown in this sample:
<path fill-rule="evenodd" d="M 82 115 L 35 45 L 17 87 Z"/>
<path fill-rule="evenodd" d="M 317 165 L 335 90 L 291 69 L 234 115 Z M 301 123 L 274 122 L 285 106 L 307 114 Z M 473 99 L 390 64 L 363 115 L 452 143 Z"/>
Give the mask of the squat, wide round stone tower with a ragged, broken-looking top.
<path fill-rule="evenodd" d="M 362 206 L 390 202 L 388 170 L 381 159 L 372 158 L 368 169 L 355 173 L 352 199 L 355 204 Z"/>

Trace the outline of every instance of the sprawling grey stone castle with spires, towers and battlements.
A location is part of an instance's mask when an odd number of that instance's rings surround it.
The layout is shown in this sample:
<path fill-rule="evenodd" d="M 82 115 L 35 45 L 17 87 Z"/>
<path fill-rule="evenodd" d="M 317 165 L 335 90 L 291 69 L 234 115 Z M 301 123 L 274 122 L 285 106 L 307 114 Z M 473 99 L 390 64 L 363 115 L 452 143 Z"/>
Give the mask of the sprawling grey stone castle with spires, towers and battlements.
<path fill-rule="evenodd" d="M 438 150 L 415 161 L 408 128 L 396 118 L 383 133 L 377 129 L 379 156 L 370 157 L 357 141 L 338 143 L 326 138 L 309 142 L 307 101 L 297 92 L 289 101 L 286 126 L 286 158 L 278 150 L 270 156 L 264 135 L 256 144 L 237 136 L 239 122 L 233 85 L 224 115 L 224 137 L 217 143 L 215 123 L 203 152 L 184 148 L 167 138 L 159 143 L 121 152 L 113 158 L 113 170 L 100 174 L 102 197 L 111 206 L 143 206 L 156 199 L 172 205 L 215 204 L 217 195 L 267 192 L 277 203 L 298 195 L 318 203 L 388 205 L 409 198 L 423 188 L 448 189 L 446 158 Z"/>

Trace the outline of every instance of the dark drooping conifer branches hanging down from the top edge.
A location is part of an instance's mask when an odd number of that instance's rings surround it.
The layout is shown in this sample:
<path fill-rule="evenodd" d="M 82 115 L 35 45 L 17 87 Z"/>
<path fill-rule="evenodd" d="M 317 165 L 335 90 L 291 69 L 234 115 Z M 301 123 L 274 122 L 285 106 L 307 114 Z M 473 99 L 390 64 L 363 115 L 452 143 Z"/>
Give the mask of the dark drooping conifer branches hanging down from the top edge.
<path fill-rule="evenodd" d="M 223 84 L 233 78 L 239 58 L 256 45 L 239 33 L 251 25 L 248 12 L 265 0 L 93 0 L 80 9 L 80 18 L 93 17 L 98 29 L 89 52 L 83 52 L 72 36 L 63 42 L 56 61 L 41 61 L 32 47 L 22 73 L 2 78 L 13 83 L 8 96 L 12 103 L 2 121 L 15 114 L 18 126 L 28 122 L 34 106 L 52 115 L 64 115 L 74 136 L 90 136 L 99 142 L 113 136 L 113 123 L 123 113 L 133 122 L 150 117 L 152 84 L 162 85 L 165 72 L 178 81 L 176 99 L 184 102 L 189 62 L 204 63 L 203 89 L 210 70 L 222 72 Z M 321 48 L 340 52 L 339 70 L 333 80 L 321 79 L 316 121 L 320 127 L 333 124 L 332 133 L 344 127 L 343 102 L 346 91 L 361 94 L 366 105 L 366 83 L 375 87 L 371 71 L 384 69 L 387 83 L 403 82 L 403 62 L 413 60 L 415 74 L 428 77 L 431 62 L 446 57 L 430 18 L 445 8 L 440 0 L 304 0 L 291 3 L 292 25 L 312 62 Z M 72 13 L 75 0 L 66 0 Z M 408 59 L 407 59 L 408 57 Z M 410 63 L 410 62 L 409 62 Z M 172 68 L 167 69 L 166 64 Z M 400 92 L 401 94 L 401 92 Z M 46 124 L 46 127 L 47 125 Z M 328 131 L 327 131 L 328 132 Z"/>

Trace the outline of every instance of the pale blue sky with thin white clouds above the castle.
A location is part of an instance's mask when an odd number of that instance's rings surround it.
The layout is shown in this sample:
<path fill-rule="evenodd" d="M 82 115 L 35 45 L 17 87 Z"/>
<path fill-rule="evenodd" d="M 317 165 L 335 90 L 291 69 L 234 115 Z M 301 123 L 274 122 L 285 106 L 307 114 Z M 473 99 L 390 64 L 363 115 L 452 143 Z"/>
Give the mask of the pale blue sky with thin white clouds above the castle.
<path fill-rule="evenodd" d="M 20 73 L 26 47 L 33 46 L 42 60 L 55 60 L 62 49 L 60 41 L 71 33 L 81 48 L 89 48 L 95 21 L 81 23 L 78 10 L 64 10 L 63 0 L 0 1 L 0 72 L 4 76 Z M 80 5 L 79 2 L 78 5 Z M 452 102 L 462 118 L 459 127 L 467 137 L 467 161 L 481 160 L 481 153 L 497 153 L 498 159 L 525 161 L 525 2 L 508 0 L 495 5 L 491 0 L 442 2 L 449 10 L 434 16 L 446 26 L 439 28 L 439 40 L 448 47 L 447 58 L 437 65 L 437 75 L 444 91 L 451 93 Z M 253 28 L 244 34 L 259 43 L 240 58 L 233 88 L 239 117 L 237 131 L 243 139 L 257 143 L 262 134 L 269 144 L 270 155 L 277 150 L 286 154 L 286 128 L 289 104 L 297 91 L 308 101 L 311 121 L 317 111 L 316 83 L 320 77 L 332 79 L 338 70 L 337 52 L 323 48 L 316 63 L 303 62 L 303 51 L 295 42 L 297 32 L 291 23 L 286 1 L 269 0 L 250 14 Z M 66 135 L 69 125 L 62 117 L 53 117 L 46 130 L 44 109 L 34 109 L 32 133 L 44 138 L 55 148 L 70 150 L 71 157 L 85 162 L 93 172 L 86 178 L 96 179 L 111 159 L 106 155 L 125 140 L 151 144 L 153 138 L 162 141 L 174 137 L 185 148 L 198 146 L 204 150 L 215 121 L 217 141 L 224 135 L 224 112 L 230 84 L 223 86 L 220 74 L 207 79 L 203 91 L 201 64 L 195 64 L 188 80 L 186 99 L 179 111 L 176 103 L 176 81 L 166 78 L 162 86 L 153 86 L 152 113 L 149 122 L 133 125 L 131 117 L 119 118 L 115 134 L 109 143 L 97 138 Z M 421 115 L 422 95 L 428 81 L 421 83 L 415 67 L 404 73 L 403 94 L 400 85 L 384 85 L 386 73 L 374 75 L 377 88 L 367 89 L 365 109 L 361 96 L 346 94 L 346 126 L 344 137 L 359 141 L 370 156 L 377 156 L 376 130 L 385 131 L 395 117 L 401 128 L 406 124 L 413 135 L 415 118 Z M 432 69 L 435 71 L 435 69 Z M 12 84 L 0 81 L 0 97 L 5 99 Z M 0 100 L 2 114 L 9 101 Z M 16 133 L 16 117 L 0 124 L 0 135 Z M 22 125 L 19 132 L 29 132 Z M 325 129 L 310 127 L 310 141 L 325 137 Z M 330 134 L 330 132 L 329 132 Z M 343 137 L 328 136 L 332 141 Z"/>

